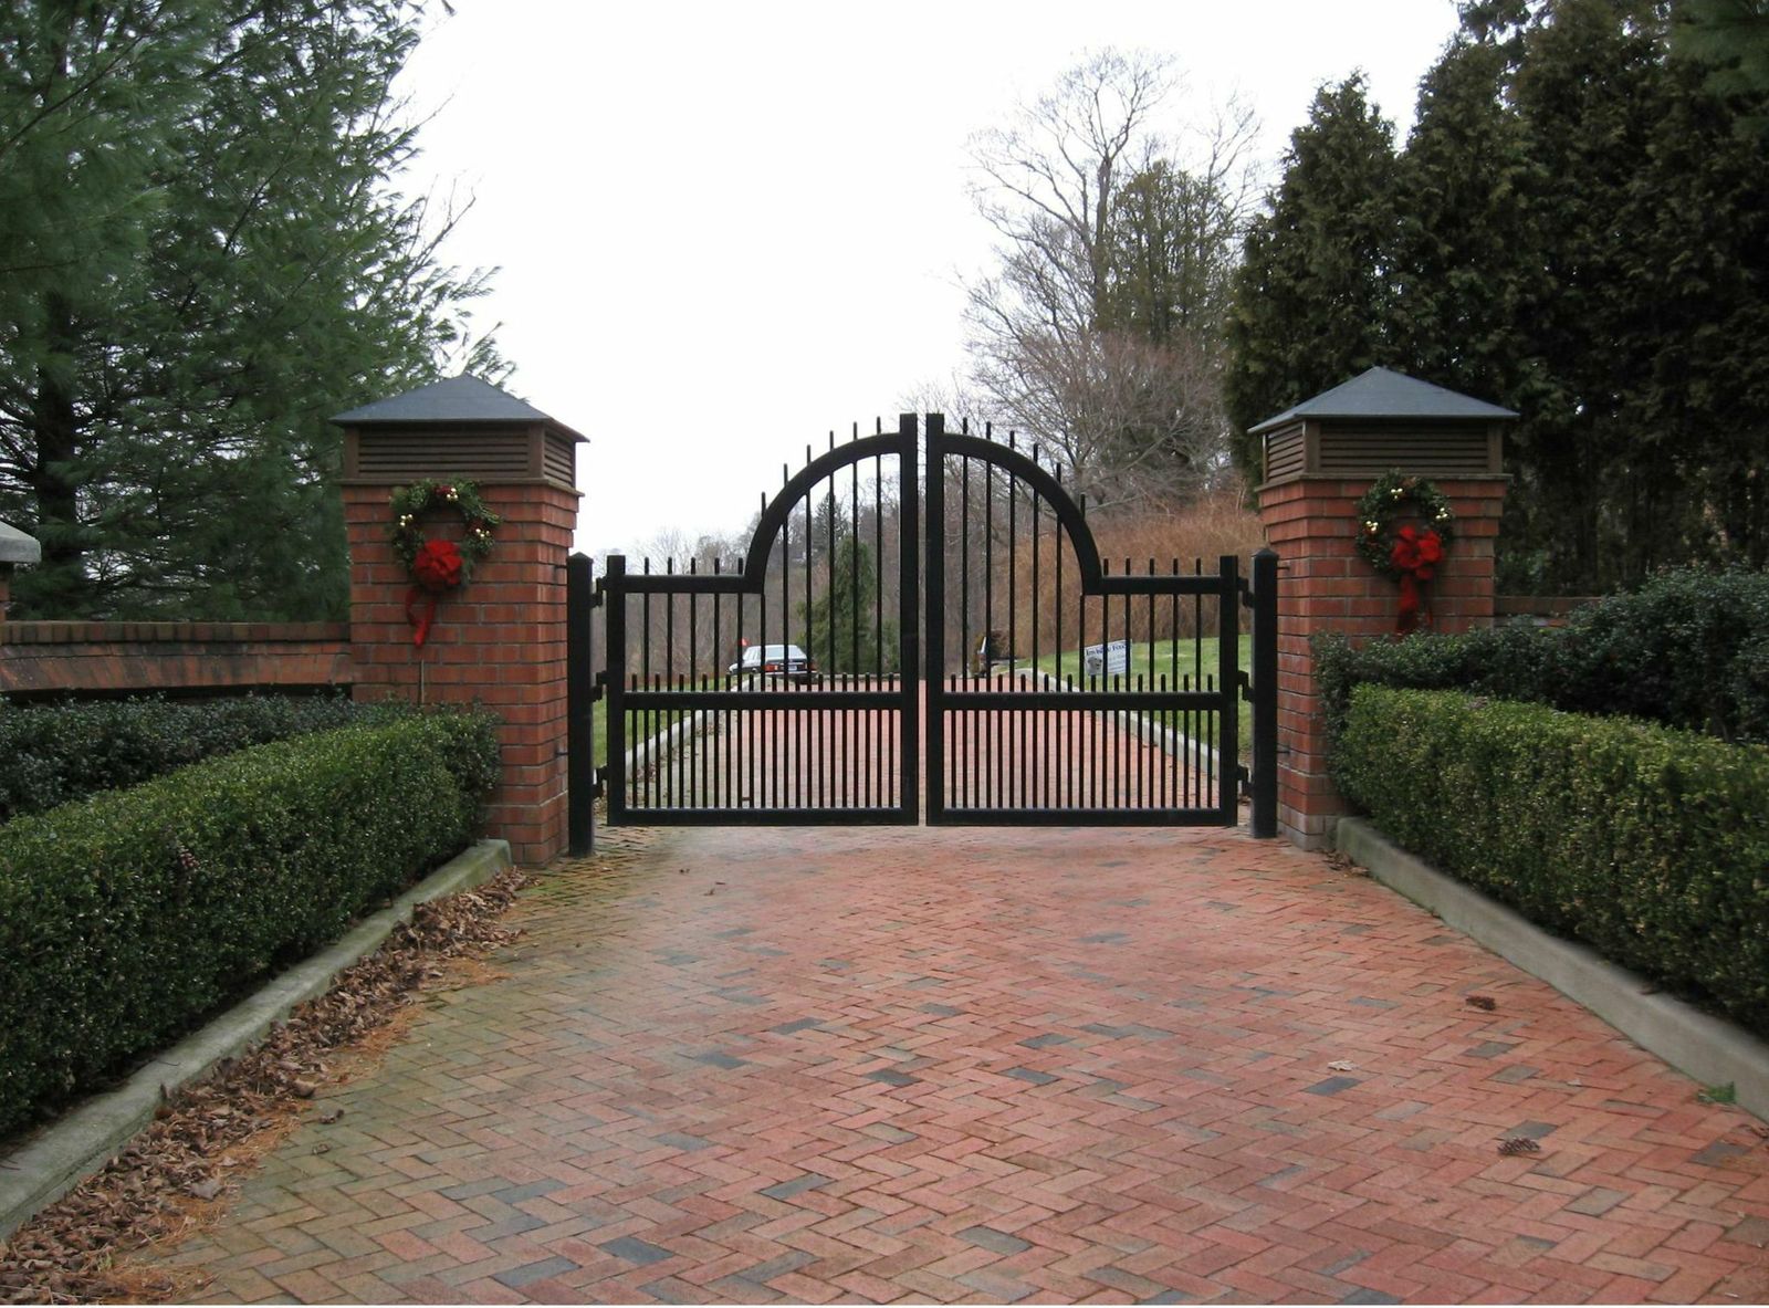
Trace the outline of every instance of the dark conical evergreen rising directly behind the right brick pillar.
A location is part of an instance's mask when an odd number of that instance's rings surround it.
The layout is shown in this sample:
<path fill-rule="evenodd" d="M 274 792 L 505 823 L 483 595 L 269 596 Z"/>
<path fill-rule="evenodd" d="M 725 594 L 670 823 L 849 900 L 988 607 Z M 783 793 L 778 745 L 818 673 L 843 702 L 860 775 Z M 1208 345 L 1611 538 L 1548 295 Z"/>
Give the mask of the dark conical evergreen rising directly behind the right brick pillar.
<path fill-rule="evenodd" d="M 1235 460 L 1258 480 L 1245 432 L 1394 354 L 1394 126 L 1362 76 L 1321 88 L 1290 138 L 1270 211 L 1254 219 L 1228 319 Z"/>

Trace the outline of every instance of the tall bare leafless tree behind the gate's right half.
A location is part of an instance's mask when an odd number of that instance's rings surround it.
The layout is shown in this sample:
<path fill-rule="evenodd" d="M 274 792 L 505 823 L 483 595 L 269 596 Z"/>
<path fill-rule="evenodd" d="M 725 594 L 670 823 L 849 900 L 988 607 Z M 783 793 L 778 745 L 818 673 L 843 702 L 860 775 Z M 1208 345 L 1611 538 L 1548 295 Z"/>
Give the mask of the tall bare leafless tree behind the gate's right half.
<path fill-rule="evenodd" d="M 991 414 L 1100 506 L 1196 494 L 1226 469 L 1221 322 L 1252 196 L 1252 119 L 1219 112 L 1180 161 L 1157 133 L 1166 58 L 1086 57 L 971 143 L 999 267 L 968 287 Z"/>

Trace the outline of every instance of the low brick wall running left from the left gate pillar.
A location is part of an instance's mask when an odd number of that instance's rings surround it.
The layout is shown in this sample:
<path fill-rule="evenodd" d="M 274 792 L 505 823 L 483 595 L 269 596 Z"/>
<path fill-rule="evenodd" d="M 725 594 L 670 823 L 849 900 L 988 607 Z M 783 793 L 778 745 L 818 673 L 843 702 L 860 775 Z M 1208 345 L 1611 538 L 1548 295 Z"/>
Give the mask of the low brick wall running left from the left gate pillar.
<path fill-rule="evenodd" d="M 345 623 L 0 621 L 0 692 L 207 692 L 348 687 Z"/>

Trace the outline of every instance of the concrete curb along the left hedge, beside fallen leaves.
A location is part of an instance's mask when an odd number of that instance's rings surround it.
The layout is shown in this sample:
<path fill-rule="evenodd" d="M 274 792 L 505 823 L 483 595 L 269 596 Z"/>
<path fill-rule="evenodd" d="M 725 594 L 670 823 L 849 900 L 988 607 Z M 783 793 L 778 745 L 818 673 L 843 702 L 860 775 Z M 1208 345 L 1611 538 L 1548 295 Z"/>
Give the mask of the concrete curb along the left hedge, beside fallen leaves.
<path fill-rule="evenodd" d="M 202 1030 L 143 1064 L 115 1090 L 85 1099 L 0 1156 L 0 1241 L 104 1166 L 142 1127 L 154 1120 L 163 1092 L 200 1080 L 223 1058 L 244 1053 L 297 1004 L 324 995 L 333 979 L 382 940 L 412 910 L 483 885 L 511 866 L 508 841 L 479 841 L 393 901 L 364 917 L 338 943 L 272 977 Z"/>

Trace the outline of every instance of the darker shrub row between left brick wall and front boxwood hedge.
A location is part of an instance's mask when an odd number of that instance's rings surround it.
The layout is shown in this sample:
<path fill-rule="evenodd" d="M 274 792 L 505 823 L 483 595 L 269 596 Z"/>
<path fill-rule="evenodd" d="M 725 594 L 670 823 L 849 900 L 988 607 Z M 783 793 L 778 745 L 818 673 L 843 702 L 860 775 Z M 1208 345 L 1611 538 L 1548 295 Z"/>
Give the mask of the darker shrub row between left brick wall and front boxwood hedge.
<path fill-rule="evenodd" d="M 138 786 L 248 745 L 329 731 L 370 712 L 341 696 L 5 704 L 0 706 L 0 821 Z"/>

